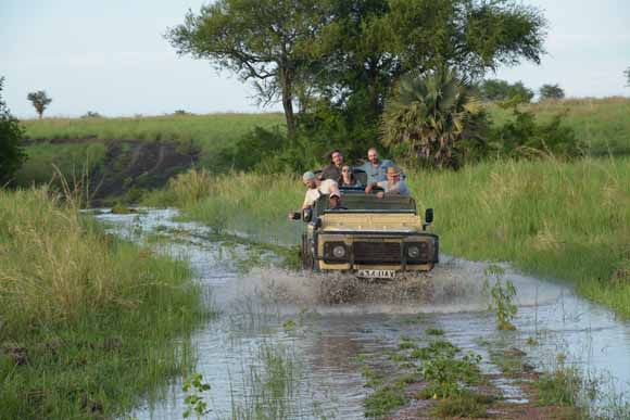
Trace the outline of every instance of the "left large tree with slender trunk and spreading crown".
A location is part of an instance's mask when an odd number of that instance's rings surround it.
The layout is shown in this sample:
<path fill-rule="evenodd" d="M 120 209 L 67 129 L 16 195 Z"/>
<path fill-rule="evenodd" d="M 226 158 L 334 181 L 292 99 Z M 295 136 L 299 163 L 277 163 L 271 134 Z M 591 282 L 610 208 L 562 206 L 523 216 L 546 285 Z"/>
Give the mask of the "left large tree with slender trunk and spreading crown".
<path fill-rule="evenodd" d="M 313 64 L 311 50 L 331 18 L 318 0 L 217 0 L 189 12 L 166 38 L 179 54 L 207 59 L 254 82 L 265 103 L 282 102 L 294 137 L 294 89 Z"/>

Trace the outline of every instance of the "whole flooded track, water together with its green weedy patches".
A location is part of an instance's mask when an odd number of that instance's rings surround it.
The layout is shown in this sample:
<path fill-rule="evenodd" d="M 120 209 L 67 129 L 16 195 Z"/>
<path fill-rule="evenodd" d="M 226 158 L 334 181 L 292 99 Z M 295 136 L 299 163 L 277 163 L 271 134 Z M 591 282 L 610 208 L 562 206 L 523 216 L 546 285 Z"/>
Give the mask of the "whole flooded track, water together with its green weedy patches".
<path fill-rule="evenodd" d="M 436 418 L 456 412 L 439 407 L 451 392 L 470 396 L 459 411 L 479 409 L 477 418 L 628 412 L 630 323 L 565 284 L 504 267 L 518 313 L 515 330 L 499 331 L 486 310 L 487 264 L 442 256 L 429 277 L 399 283 L 319 277 L 280 268 L 268 250 L 175 216 L 150 209 L 97 217 L 117 234 L 189 259 L 220 309 L 193 338 L 197 371 L 211 385 L 202 395 L 205 418 Z M 543 373 L 557 368 L 579 369 L 598 387 L 580 391 L 590 413 L 549 400 L 553 386 L 537 391 Z M 186 395 L 180 382 L 171 384 L 163 399 L 131 416 L 181 418 Z"/>

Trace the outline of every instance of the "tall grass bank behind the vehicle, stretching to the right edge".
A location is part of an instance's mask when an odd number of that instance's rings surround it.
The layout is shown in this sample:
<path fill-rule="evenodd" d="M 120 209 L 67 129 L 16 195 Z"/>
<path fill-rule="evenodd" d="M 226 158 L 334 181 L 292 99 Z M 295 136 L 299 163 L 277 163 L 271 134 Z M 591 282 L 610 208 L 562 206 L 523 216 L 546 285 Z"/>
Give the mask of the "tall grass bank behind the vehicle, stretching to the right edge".
<path fill-rule="evenodd" d="M 300 224 L 286 220 L 302 202 L 297 177 L 205 177 L 182 176 L 148 203 L 181 206 L 217 230 L 297 243 Z M 570 280 L 630 316 L 630 158 L 494 162 L 408 179 L 418 208 L 436 209 L 443 252 Z"/>

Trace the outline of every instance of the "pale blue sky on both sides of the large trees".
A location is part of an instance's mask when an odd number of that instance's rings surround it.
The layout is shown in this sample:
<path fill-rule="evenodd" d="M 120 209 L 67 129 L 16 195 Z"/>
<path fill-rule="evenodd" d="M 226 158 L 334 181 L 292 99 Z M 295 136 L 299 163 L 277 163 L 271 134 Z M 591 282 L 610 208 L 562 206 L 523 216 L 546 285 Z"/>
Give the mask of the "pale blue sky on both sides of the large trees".
<path fill-rule="evenodd" d="M 518 0 L 517 0 L 518 1 Z M 0 0 L 2 97 L 18 118 L 36 117 L 28 92 L 45 90 L 45 116 L 270 112 L 253 90 L 207 61 L 178 56 L 164 39 L 207 0 Z M 559 84 L 568 97 L 630 96 L 629 0 L 524 0 L 549 21 L 540 66 L 489 77 L 537 90 Z"/>

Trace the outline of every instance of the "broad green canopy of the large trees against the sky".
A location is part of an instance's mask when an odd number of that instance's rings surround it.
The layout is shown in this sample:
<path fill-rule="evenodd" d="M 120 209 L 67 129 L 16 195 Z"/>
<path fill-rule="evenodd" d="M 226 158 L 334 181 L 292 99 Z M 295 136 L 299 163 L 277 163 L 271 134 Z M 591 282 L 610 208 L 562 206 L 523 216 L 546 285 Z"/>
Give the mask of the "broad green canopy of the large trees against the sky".
<path fill-rule="evenodd" d="M 375 135 L 402 75 L 540 63 L 545 28 L 538 9 L 515 0 L 217 0 L 166 38 L 253 81 L 263 102 L 280 99 L 293 137 L 295 103 L 300 113 L 329 106 Z"/>

